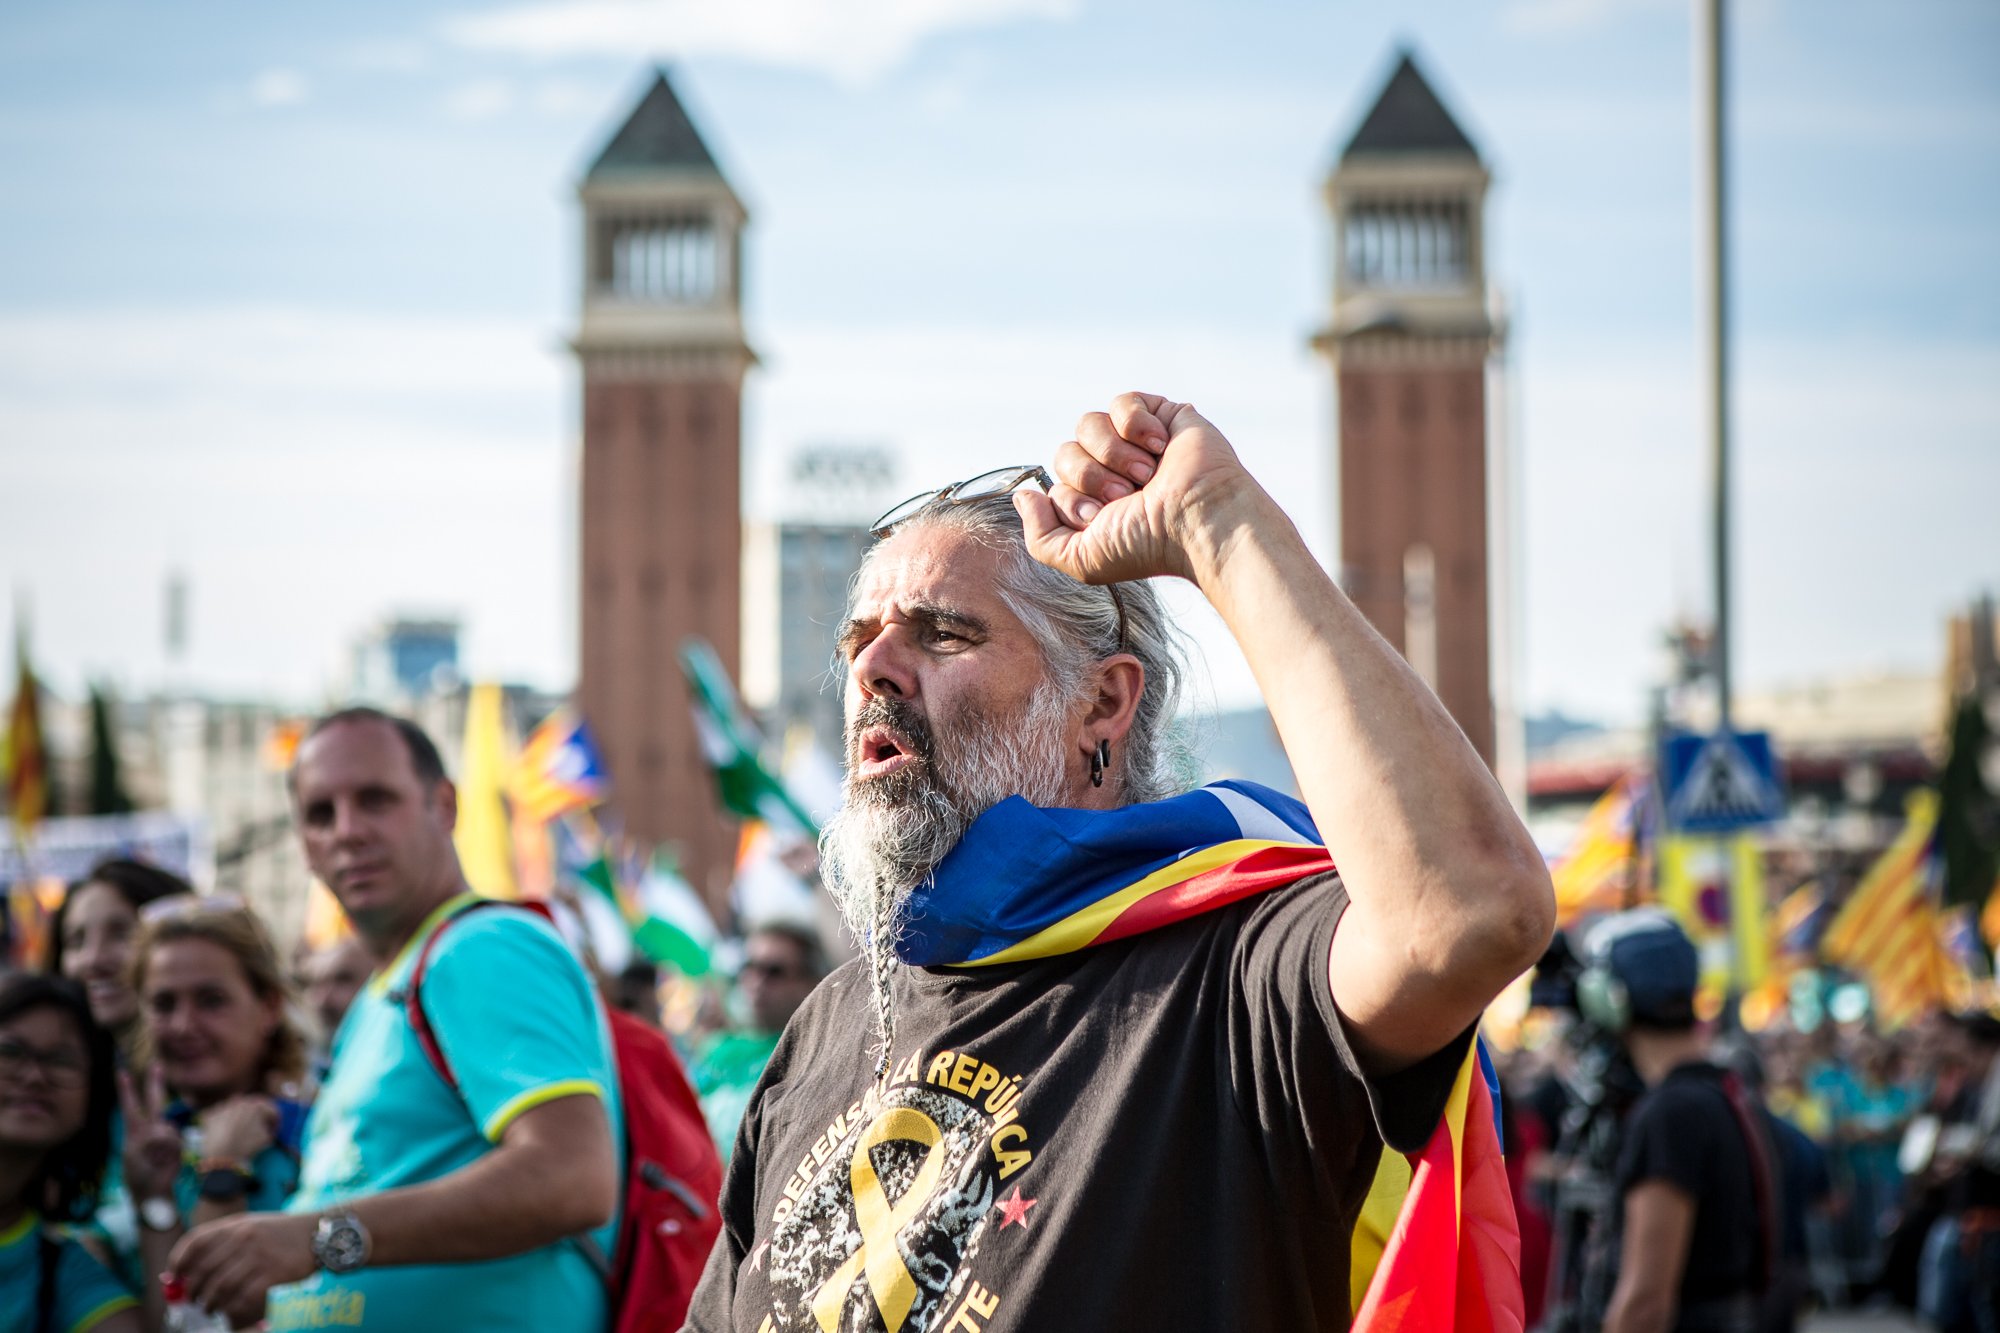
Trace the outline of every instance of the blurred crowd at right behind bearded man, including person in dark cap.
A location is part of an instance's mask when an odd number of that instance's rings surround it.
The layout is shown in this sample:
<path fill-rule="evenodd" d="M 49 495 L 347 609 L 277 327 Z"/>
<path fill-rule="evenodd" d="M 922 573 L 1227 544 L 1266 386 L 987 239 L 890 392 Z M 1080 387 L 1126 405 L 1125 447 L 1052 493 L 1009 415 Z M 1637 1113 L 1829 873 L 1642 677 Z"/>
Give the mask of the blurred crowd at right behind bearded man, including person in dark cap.
<path fill-rule="evenodd" d="M 1596 929 L 1634 927 L 1652 935 L 1646 949 L 1614 963 L 1600 941 L 1596 963 L 1600 975 L 1622 969 L 1624 1011 L 1606 1015 L 1588 981 L 1550 987 L 1542 997 L 1556 1005 L 1538 1013 L 1536 1041 L 1502 1059 L 1530 1327 L 1626 1327 L 1616 1279 L 1640 1273 L 1690 1283 L 1650 1293 L 1680 1311 L 1662 1327 L 1780 1333 L 1810 1309 L 1884 1307 L 1944 1333 L 2000 1329 L 2000 1247 L 1988 1239 L 2000 1223 L 1990 1211 L 2000 1203 L 2000 1017 L 1934 1011 L 1894 1033 L 1866 1011 L 1786 1013 L 1754 1033 L 1698 1025 L 1692 945 L 1656 913 Z M 1698 1077 L 1726 1079 L 1756 1133 L 1722 1125 L 1704 1139 L 1698 1113 L 1726 1101 L 1696 1095 L 1690 1113 L 1680 1091 L 1664 1119 L 1674 1097 L 1648 1101 L 1672 1079 Z M 1616 1253 L 1630 1235 L 1630 1187 L 1648 1173 L 1696 1203 L 1684 1259 Z M 1764 1199 L 1752 1189 L 1760 1177 Z M 1766 1245 L 1762 1267 L 1740 1263 Z M 1718 1299 L 1736 1303 L 1734 1325 L 1722 1315 L 1690 1323 Z"/>

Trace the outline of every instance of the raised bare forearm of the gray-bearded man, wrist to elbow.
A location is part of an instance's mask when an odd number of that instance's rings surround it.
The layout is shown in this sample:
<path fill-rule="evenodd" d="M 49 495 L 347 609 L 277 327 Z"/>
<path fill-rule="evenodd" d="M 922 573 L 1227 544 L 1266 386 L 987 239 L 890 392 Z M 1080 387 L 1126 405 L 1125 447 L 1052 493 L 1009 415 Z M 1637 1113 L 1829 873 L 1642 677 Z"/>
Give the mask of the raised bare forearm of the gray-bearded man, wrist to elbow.
<path fill-rule="evenodd" d="M 1470 1021 L 1548 941 L 1534 843 L 1438 697 L 1268 494 L 1242 486 L 1188 524 L 1194 580 L 1256 673 L 1350 911 L 1402 951 L 1408 981 L 1462 995 Z"/>

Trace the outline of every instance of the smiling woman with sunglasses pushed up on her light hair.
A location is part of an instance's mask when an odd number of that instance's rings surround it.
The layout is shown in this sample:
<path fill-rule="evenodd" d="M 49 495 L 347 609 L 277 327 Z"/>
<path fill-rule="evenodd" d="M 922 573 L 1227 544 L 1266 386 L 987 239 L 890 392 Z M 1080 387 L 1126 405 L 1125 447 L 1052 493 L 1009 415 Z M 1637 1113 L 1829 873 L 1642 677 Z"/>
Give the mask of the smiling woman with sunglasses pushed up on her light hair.
<path fill-rule="evenodd" d="M 120 1079 L 124 1183 L 146 1281 L 182 1231 L 276 1211 L 298 1187 L 306 1041 L 264 923 L 242 901 L 166 899 L 142 913 L 132 985 L 142 1075 Z M 130 1259 L 130 1255 L 120 1255 Z"/>

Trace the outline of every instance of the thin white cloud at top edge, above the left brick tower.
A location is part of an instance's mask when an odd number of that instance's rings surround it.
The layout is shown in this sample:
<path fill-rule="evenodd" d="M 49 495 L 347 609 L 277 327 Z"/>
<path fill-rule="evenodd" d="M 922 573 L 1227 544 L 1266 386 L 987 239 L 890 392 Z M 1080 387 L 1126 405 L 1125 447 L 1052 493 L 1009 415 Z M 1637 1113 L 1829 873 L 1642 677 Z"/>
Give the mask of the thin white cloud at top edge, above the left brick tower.
<path fill-rule="evenodd" d="M 542 0 L 452 18 L 444 36 L 530 56 L 740 56 L 868 80 L 938 32 L 1072 10 L 1074 0 Z"/>

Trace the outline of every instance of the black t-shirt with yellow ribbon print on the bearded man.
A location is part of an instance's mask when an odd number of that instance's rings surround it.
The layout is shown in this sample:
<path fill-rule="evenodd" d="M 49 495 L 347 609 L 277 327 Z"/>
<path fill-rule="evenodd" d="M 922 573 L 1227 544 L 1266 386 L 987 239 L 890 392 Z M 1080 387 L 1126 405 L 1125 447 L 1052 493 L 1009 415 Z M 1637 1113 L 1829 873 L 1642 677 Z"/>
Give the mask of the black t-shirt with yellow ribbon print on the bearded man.
<path fill-rule="evenodd" d="M 1328 991 L 1346 891 L 1276 889 L 1034 963 L 866 973 L 798 1011 L 744 1113 L 698 1331 L 1346 1329 L 1382 1141 L 1470 1033 L 1366 1079 Z"/>

